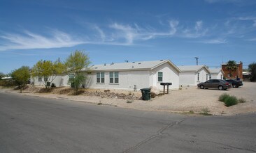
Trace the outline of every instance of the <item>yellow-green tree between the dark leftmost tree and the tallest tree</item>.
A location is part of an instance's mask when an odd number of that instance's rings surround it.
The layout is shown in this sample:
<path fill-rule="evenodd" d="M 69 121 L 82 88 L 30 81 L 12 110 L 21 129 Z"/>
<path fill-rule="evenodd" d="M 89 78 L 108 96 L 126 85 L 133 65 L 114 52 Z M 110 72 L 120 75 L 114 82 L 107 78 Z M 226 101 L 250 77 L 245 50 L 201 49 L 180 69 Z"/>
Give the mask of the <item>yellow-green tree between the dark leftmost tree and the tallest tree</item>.
<path fill-rule="evenodd" d="M 64 72 L 64 64 L 61 62 L 38 61 L 32 68 L 32 77 L 43 77 L 43 85 L 48 88 L 58 74 Z"/>

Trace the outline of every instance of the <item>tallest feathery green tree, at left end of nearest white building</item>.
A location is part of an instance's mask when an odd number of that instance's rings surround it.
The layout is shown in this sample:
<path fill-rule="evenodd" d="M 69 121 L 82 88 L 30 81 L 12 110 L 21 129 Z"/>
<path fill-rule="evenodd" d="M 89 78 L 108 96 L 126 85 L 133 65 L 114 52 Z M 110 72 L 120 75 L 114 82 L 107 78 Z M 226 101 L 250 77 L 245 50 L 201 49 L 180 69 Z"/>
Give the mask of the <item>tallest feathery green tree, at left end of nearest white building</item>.
<path fill-rule="evenodd" d="M 79 86 L 87 79 L 82 70 L 90 65 L 89 56 L 85 54 L 85 51 L 76 50 L 66 58 L 65 65 L 69 76 L 72 76 L 69 81 L 73 83 L 75 94 L 78 95 Z"/>

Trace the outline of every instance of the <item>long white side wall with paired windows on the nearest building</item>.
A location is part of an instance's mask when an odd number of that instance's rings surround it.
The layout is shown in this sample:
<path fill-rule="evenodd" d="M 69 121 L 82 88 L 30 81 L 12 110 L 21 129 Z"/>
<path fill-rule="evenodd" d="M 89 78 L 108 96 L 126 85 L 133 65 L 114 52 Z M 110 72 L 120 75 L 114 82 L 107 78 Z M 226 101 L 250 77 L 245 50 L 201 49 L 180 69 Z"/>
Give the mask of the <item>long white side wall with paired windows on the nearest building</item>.
<path fill-rule="evenodd" d="M 110 83 L 109 72 L 105 73 L 105 82 L 97 83 L 97 72 L 88 75 L 86 88 L 137 90 L 150 87 L 150 71 L 124 71 L 119 72 L 119 83 Z"/>

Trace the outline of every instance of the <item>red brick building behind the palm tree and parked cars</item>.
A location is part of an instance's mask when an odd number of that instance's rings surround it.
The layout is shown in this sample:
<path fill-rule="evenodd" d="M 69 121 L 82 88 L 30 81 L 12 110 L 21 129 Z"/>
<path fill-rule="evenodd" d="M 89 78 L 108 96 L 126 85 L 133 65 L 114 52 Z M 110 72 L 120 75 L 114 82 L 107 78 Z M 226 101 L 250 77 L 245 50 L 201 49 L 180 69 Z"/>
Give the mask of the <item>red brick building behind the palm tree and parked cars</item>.
<path fill-rule="evenodd" d="M 234 72 L 232 72 L 232 74 L 230 74 L 229 70 L 227 70 L 226 67 L 227 67 L 227 63 L 223 63 L 221 65 L 221 68 L 225 73 L 224 77 L 226 79 L 237 79 L 237 78 L 243 79 L 243 63 L 242 62 L 239 62 L 237 64 L 237 69 Z"/>

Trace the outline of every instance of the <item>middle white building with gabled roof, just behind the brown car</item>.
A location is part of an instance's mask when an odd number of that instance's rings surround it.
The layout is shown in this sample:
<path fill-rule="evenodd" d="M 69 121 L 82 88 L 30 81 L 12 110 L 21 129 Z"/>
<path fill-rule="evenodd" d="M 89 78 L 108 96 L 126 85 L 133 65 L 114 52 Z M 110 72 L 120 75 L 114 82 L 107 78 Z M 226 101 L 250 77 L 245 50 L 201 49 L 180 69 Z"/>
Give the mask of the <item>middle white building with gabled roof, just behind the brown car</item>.
<path fill-rule="evenodd" d="M 180 86 L 197 86 L 200 82 L 210 79 L 211 72 L 206 65 L 178 66 L 180 73 Z"/>

